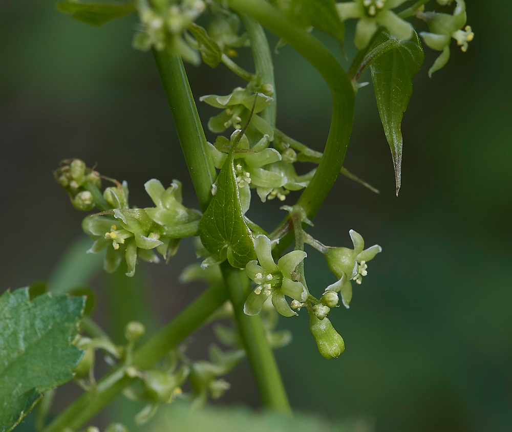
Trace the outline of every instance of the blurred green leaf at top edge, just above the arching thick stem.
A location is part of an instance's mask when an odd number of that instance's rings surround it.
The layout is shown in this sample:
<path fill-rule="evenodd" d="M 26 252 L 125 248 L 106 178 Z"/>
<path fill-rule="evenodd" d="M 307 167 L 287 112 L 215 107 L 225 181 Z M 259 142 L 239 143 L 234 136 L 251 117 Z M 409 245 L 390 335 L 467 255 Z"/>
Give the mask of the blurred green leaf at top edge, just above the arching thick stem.
<path fill-rule="evenodd" d="M 332 34 L 343 44 L 345 25 L 339 19 L 335 0 L 278 0 L 278 5 L 296 25 Z"/>

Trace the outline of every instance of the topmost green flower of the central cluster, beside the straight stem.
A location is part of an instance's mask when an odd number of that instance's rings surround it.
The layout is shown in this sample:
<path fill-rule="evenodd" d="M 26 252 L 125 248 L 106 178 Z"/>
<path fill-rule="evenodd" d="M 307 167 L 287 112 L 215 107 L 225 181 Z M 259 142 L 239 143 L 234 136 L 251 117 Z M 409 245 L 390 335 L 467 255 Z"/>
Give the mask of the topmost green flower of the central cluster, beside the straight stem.
<path fill-rule="evenodd" d="M 268 106 L 272 98 L 263 93 L 257 93 L 257 95 L 258 98 L 254 106 L 254 114 L 251 118 L 248 133 L 256 129 L 261 134 L 268 135 L 269 140 L 272 141 L 274 136 L 272 126 L 257 115 Z M 227 96 L 206 95 L 201 96 L 199 100 L 224 110 L 222 113 L 208 120 L 208 128 L 210 131 L 221 134 L 231 126 L 235 129 L 241 129 L 242 125 L 247 122 L 252 104 L 254 103 L 254 94 L 252 94 L 249 86 L 245 89 L 237 87 Z"/>

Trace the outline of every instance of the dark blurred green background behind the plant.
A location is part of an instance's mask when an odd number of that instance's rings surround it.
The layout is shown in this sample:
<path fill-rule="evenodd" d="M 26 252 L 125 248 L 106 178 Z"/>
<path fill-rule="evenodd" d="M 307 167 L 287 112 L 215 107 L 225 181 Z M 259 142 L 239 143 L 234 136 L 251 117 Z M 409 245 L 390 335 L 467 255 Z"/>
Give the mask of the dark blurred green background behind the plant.
<path fill-rule="evenodd" d="M 310 232 L 348 246 L 352 228 L 383 253 L 355 286 L 350 310 L 331 314 L 346 342 L 338 359 L 318 354 L 306 316 L 282 319 L 294 341 L 276 357 L 297 411 L 368 419 L 379 432 L 510 429 L 512 4 L 466 3 L 476 34 L 468 52 L 453 42 L 449 64 L 429 79 L 437 53 L 426 50 L 415 77 L 402 127 L 399 198 L 372 88 L 357 94 L 345 166 L 381 193 L 340 177 Z M 126 179 L 132 204 L 150 203 L 143 189 L 148 179 L 177 178 L 185 203 L 197 205 L 153 58 L 131 48 L 135 22 L 129 16 L 93 28 L 58 13 L 51 0 L 0 2 L 0 291 L 49 278 L 80 235 L 83 214 L 52 177 L 61 159 L 78 157 Z M 348 66 L 333 39 L 317 36 Z M 252 69 L 249 50 L 239 60 Z M 289 46 L 274 62 L 278 127 L 321 150 L 330 124 L 327 86 Z M 196 101 L 243 84 L 222 64 L 187 71 Z M 216 113 L 198 108 L 205 123 Z M 280 205 L 269 202 L 264 212 L 253 200 L 249 216 L 271 229 L 284 215 Z M 308 252 L 308 283 L 318 294 L 334 276 L 322 256 Z M 139 266 L 156 325 L 202 289 L 177 280 L 194 260 L 191 242 L 184 242 L 168 266 Z M 119 334 L 112 323 L 129 287 L 118 287 L 116 299 L 105 295 L 103 276 L 91 285 L 100 297 L 95 318 Z M 208 330 L 194 336 L 191 356 L 204 355 L 211 339 Z M 232 387 L 221 403 L 258 406 L 247 363 L 228 380 Z M 63 387 L 56 411 L 78 393 L 74 384 Z M 105 415 L 96 424 L 103 421 Z"/>

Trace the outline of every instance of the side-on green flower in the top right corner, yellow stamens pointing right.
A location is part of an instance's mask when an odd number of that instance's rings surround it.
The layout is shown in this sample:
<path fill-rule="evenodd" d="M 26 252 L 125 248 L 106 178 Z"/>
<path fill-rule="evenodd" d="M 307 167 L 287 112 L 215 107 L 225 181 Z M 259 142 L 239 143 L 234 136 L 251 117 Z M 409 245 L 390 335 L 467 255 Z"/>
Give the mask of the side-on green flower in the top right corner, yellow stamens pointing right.
<path fill-rule="evenodd" d="M 475 34 L 471 31 L 470 26 L 466 26 L 466 4 L 464 0 L 455 0 L 457 6 L 453 15 L 447 13 L 436 12 L 418 12 L 416 16 L 423 19 L 429 26 L 430 32 L 421 32 L 420 35 L 433 50 L 442 51 L 437 57 L 433 66 L 429 69 L 429 76 L 448 62 L 450 59 L 450 42 L 452 38 L 457 41 L 462 52 L 466 52 L 468 43 L 471 42 Z M 462 30 L 462 28 L 464 30 Z"/>

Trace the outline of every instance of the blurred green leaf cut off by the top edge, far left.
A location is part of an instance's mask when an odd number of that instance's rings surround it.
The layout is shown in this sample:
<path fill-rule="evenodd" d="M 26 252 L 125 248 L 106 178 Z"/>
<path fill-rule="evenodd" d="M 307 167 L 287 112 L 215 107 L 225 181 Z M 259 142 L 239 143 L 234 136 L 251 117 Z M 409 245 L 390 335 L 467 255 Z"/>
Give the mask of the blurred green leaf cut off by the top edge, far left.
<path fill-rule="evenodd" d="M 121 18 L 133 12 L 135 2 L 130 3 L 96 3 L 96 2 L 61 2 L 57 3 L 60 12 L 69 13 L 73 18 L 92 26 L 101 26 L 107 21 Z"/>

